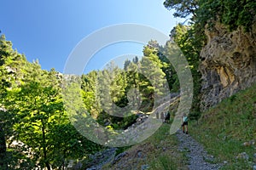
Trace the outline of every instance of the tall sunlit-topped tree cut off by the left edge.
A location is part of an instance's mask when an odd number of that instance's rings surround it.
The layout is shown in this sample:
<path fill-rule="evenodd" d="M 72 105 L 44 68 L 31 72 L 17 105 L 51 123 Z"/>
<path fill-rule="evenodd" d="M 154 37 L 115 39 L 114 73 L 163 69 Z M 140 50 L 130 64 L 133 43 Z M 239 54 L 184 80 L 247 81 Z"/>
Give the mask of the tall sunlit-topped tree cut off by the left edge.
<path fill-rule="evenodd" d="M 0 37 L 0 167 L 8 168 L 15 161 L 14 152 L 7 148 L 7 140 L 17 133 L 13 130 L 15 113 L 9 109 L 8 89 L 20 86 L 24 67 L 28 65 L 25 56 L 13 50 L 12 42 L 4 35 Z"/>

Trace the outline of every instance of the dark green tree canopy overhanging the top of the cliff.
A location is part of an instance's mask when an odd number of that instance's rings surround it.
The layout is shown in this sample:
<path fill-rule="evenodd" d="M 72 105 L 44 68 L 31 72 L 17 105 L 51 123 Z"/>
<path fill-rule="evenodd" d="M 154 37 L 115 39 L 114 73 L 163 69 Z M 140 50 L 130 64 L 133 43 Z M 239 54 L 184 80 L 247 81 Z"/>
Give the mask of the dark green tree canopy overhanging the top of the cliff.
<path fill-rule="evenodd" d="M 214 26 L 216 21 L 228 26 L 230 31 L 238 26 L 251 29 L 255 20 L 256 2 L 253 0 L 166 0 L 168 9 L 175 9 L 174 16 L 186 18 L 192 14 L 192 21 L 201 29 Z"/>

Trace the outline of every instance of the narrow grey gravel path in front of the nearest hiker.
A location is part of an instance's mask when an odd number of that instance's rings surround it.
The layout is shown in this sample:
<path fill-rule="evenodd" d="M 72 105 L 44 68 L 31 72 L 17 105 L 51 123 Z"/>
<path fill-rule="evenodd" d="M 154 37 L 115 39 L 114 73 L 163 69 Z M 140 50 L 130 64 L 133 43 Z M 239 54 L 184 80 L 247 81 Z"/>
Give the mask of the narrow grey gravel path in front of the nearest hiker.
<path fill-rule="evenodd" d="M 217 170 L 220 165 L 211 164 L 213 156 L 208 156 L 203 146 L 195 141 L 189 134 L 185 134 L 182 130 L 178 130 L 177 139 L 179 140 L 179 149 L 187 152 L 189 158 L 189 170 Z"/>

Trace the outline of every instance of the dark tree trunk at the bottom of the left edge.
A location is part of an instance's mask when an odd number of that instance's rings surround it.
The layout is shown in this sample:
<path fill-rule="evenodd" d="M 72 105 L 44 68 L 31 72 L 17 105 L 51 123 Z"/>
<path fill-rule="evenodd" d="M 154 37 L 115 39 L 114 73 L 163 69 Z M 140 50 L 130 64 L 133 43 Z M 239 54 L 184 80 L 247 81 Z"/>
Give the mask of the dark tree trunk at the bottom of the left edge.
<path fill-rule="evenodd" d="M 6 141 L 3 127 L 0 125 L 0 169 L 8 169 Z"/>

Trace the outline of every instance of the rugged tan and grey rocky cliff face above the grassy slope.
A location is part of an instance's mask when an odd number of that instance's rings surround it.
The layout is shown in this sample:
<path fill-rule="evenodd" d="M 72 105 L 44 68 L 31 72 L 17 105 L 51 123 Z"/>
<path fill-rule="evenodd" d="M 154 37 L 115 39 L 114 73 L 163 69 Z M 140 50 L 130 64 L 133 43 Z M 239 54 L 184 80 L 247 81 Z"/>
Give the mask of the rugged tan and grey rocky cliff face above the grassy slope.
<path fill-rule="evenodd" d="M 217 24 L 206 31 L 201 50 L 201 111 L 256 82 L 256 22 L 250 32 L 228 32 Z"/>

